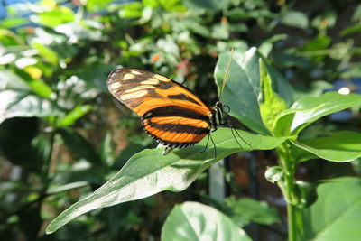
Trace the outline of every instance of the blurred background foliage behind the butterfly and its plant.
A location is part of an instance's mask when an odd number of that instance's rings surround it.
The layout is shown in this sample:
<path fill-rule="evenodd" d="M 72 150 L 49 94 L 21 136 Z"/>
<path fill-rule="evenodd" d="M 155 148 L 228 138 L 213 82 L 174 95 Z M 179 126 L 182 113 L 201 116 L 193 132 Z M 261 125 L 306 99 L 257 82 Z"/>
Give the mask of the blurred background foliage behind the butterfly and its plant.
<path fill-rule="evenodd" d="M 2 1 L 0 22 L 0 236 L 9 240 L 158 240 L 174 203 L 208 196 L 208 172 L 182 193 L 96 210 L 45 236 L 63 209 L 96 190 L 134 153 L 156 144 L 126 107 L 116 108 L 106 76 L 121 66 L 153 70 L 217 99 L 218 54 L 257 46 L 298 95 L 361 94 L 361 4 L 345 1 L 143 0 Z M 360 130 L 358 109 L 324 118 L 302 134 Z M 282 240 L 282 195 L 264 180 L 272 152 L 225 164 L 224 209 L 255 240 Z M 305 180 L 359 175 L 361 162 L 307 162 Z M 312 168 L 310 168 L 312 167 Z M 238 202 L 239 197 L 252 199 Z M 215 204 L 216 203 L 216 204 Z M 219 208 L 219 207 L 218 207 Z M 219 208 L 220 209 L 220 208 Z M 267 211 L 268 210 L 268 211 Z M 227 213 L 227 211 L 226 211 Z M 259 217 L 261 216 L 261 218 Z M 256 217 L 256 218 L 255 218 Z M 257 218 L 258 217 L 258 218 Z M 258 224 L 258 225 L 255 225 Z M 274 224 L 275 223 L 275 224 Z M 273 224 L 273 226 L 267 226 Z"/>

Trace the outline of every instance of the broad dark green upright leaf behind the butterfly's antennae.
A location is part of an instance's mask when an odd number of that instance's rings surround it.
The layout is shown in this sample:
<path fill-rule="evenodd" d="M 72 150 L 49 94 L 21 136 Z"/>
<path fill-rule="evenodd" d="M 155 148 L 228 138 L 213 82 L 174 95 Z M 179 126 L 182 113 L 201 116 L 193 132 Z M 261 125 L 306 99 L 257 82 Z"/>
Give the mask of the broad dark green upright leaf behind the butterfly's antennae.
<path fill-rule="evenodd" d="M 227 70 L 230 52 L 222 53 L 215 70 L 215 79 L 218 89 L 221 89 L 223 78 Z M 229 66 L 229 75 L 220 100 L 231 108 L 230 115 L 235 116 L 244 125 L 257 133 L 269 134 L 264 126 L 260 114 L 258 97 L 260 94 L 260 68 L 261 56 L 255 48 L 248 51 L 234 52 Z M 279 93 L 286 102 L 292 97 L 292 88 L 277 71 L 265 65 L 272 79 L 273 90 Z"/>

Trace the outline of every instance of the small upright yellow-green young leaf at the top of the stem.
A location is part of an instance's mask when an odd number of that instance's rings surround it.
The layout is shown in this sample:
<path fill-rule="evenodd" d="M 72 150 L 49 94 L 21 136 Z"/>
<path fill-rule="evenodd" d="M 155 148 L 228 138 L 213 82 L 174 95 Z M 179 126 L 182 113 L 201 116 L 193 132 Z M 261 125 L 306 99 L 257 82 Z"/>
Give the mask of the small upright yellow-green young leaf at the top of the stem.
<path fill-rule="evenodd" d="M 275 118 L 282 112 L 282 110 L 286 108 L 286 103 L 282 97 L 279 97 L 276 93 L 273 92 L 271 77 L 265 68 L 264 61 L 259 59 L 259 62 L 261 89 L 258 101 L 260 103 L 260 111 L 264 125 L 270 132 L 273 132 Z"/>

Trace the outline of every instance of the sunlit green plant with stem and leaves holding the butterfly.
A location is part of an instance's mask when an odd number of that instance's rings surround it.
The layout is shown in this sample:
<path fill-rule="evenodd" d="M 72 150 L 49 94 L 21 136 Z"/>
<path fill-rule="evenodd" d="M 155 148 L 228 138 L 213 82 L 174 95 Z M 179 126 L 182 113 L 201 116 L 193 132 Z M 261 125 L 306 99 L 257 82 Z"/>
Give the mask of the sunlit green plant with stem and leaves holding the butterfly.
<path fill-rule="evenodd" d="M 218 60 L 215 72 L 218 86 L 221 86 L 220 77 L 226 69 L 227 58 L 229 53 L 221 55 Z M 47 231 L 53 232 L 71 219 L 93 209 L 141 199 L 162 190 L 185 190 L 210 164 L 230 153 L 275 148 L 279 166 L 270 168 L 266 177 L 277 183 L 287 202 L 289 240 L 301 240 L 305 235 L 301 210 L 311 205 L 314 201 L 311 196 L 315 195 L 316 190 L 295 180 L 297 165 L 317 157 L 331 162 L 348 162 L 361 156 L 361 134 L 339 132 L 328 137 L 301 140 L 301 130 L 322 116 L 361 105 L 361 96 L 329 92 L 320 97 L 302 97 L 292 102 L 292 88 L 275 70 L 264 64 L 255 48 L 245 52 L 236 51 L 229 71 L 223 101 L 231 107 L 230 115 L 238 117 L 250 129 L 259 133 L 241 132 L 251 147 L 240 148 L 230 130 L 223 128 L 212 134 L 218 150 L 216 159 L 212 157 L 214 147 L 209 147 L 205 153 L 199 153 L 205 141 L 167 156 L 162 156 L 162 150 L 159 149 L 144 150 L 135 154 L 116 176 L 93 194 L 55 218 Z M 255 75 L 255 72 L 259 74 Z M 273 91 L 273 85 L 279 94 Z M 292 102 L 290 108 L 287 108 L 287 101 Z M 242 107 L 246 105 L 248 107 L 245 110 Z M 360 181 L 354 181 L 356 186 L 360 184 Z M 356 211 L 360 211 L 359 208 L 356 207 Z M 343 235 L 354 240 L 357 236 L 356 224 L 350 228 L 355 232 Z M 170 232 L 169 227 L 163 230 Z"/>

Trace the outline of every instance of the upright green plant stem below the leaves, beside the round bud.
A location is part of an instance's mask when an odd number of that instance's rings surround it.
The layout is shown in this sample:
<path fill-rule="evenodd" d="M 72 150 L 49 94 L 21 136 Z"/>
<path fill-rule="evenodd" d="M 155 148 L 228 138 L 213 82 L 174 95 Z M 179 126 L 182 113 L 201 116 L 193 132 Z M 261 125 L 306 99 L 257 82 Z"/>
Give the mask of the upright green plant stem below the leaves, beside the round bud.
<path fill-rule="evenodd" d="M 297 212 L 299 211 L 299 209 L 297 209 L 294 205 L 295 199 L 297 199 L 296 194 L 294 193 L 294 171 L 296 165 L 292 160 L 288 144 L 282 144 L 279 148 L 277 148 L 277 153 L 279 154 L 280 164 L 284 173 L 284 179 L 279 186 L 281 187 L 287 204 L 288 241 L 296 241 L 298 240 Z"/>

